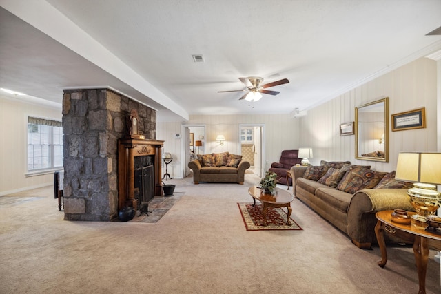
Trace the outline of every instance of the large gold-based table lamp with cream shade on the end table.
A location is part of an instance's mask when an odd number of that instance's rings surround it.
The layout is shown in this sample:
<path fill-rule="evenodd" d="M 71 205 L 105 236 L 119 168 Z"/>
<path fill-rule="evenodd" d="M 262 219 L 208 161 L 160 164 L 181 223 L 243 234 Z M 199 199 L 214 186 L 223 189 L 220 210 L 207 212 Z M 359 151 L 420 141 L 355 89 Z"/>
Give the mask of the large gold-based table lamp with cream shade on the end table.
<path fill-rule="evenodd" d="M 402 152 L 398 154 L 395 178 L 414 182 L 407 190 L 416 215 L 412 218 L 426 222 L 426 216 L 434 214 L 440 207 L 441 153 Z"/>

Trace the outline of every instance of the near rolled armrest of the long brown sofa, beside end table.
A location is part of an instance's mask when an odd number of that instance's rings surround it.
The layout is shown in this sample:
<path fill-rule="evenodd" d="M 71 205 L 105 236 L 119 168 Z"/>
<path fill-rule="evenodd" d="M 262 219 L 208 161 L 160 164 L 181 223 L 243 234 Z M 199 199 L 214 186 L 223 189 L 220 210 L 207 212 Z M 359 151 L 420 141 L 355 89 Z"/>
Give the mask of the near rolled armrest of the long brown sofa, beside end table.
<path fill-rule="evenodd" d="M 347 211 L 347 234 L 354 244 L 374 242 L 375 213 L 393 209 L 415 211 L 407 189 L 365 189 L 354 193 Z"/>

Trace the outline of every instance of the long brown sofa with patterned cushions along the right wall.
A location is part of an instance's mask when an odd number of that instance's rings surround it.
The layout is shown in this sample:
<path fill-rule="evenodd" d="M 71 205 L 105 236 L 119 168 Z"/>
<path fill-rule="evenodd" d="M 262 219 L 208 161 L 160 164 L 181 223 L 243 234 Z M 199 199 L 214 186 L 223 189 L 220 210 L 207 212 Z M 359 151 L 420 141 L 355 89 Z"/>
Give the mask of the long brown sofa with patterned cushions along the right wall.
<path fill-rule="evenodd" d="M 372 171 L 350 162 L 291 167 L 294 196 L 322 218 L 346 233 L 353 244 L 369 249 L 376 243 L 376 212 L 389 209 L 414 211 L 407 196 L 411 183 L 395 179 L 395 171 Z M 386 242 L 402 240 L 389 234 Z"/>

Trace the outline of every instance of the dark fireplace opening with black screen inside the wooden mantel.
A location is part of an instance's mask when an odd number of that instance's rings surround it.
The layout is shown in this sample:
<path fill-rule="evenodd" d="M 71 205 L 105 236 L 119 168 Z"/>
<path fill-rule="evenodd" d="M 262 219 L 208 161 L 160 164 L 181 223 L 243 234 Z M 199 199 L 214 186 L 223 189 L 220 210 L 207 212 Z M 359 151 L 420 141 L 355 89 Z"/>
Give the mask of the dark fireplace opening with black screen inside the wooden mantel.
<path fill-rule="evenodd" d="M 150 201 L 154 198 L 154 156 L 134 158 L 134 198 L 140 213 L 148 215 Z"/>

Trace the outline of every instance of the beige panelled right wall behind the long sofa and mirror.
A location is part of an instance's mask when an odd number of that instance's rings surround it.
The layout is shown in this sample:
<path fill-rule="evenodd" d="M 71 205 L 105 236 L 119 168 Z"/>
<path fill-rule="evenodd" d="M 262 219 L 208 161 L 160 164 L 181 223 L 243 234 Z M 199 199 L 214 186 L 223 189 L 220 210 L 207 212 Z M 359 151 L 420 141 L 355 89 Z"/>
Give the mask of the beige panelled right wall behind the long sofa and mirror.
<path fill-rule="evenodd" d="M 389 97 L 389 162 L 355 159 L 355 136 L 340 136 L 340 123 L 354 120 L 354 108 Z M 426 108 L 425 129 L 391 132 L 391 114 Z M 320 160 L 350 160 L 378 171 L 396 169 L 400 151 L 437 151 L 437 63 L 421 58 L 323 103 L 300 118 L 300 140 L 311 146 Z M 305 131 L 305 132 L 303 132 Z"/>

